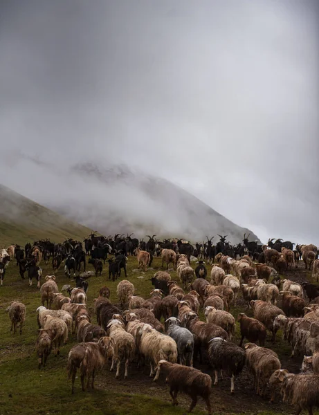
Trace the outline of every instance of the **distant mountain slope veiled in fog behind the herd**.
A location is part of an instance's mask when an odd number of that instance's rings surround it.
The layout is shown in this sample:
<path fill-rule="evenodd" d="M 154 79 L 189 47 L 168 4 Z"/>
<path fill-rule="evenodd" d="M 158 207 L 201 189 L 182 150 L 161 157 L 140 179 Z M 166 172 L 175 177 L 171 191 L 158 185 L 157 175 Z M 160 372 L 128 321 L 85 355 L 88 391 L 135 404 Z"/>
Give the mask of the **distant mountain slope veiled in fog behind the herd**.
<path fill-rule="evenodd" d="M 80 178 L 91 199 L 55 199 L 48 205 L 102 234 L 131 233 L 136 237 L 156 234 L 157 237 L 178 236 L 191 241 L 214 241 L 217 234 L 227 234 L 238 243 L 244 233 L 250 241 L 259 240 L 253 232 L 236 225 L 189 192 L 163 178 L 150 176 L 127 165 L 100 167 L 82 163 L 70 174 Z M 80 208 L 79 208 L 80 205 Z M 76 206 L 76 208 L 73 208 Z"/>

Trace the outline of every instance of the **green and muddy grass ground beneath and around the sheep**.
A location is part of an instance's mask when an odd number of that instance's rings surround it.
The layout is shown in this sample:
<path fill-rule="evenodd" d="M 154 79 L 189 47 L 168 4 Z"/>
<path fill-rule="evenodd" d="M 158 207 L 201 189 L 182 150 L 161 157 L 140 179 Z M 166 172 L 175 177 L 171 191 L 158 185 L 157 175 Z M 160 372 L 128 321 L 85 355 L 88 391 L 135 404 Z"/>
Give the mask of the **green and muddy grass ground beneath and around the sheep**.
<path fill-rule="evenodd" d="M 44 276 L 52 274 L 51 265 L 41 264 Z M 154 275 L 161 266 L 161 259 L 154 258 L 152 264 L 154 269 L 147 270 L 146 273 L 136 270 L 137 261 L 135 257 L 128 260 L 128 279 L 136 287 L 136 294 L 144 298 L 149 297 L 152 289 L 149 278 Z M 192 266 L 196 266 L 192 263 Z M 89 266 L 88 269 L 91 269 Z M 210 267 L 208 267 L 210 272 Z M 89 291 L 87 306 L 92 315 L 92 322 L 96 323 L 93 315 L 93 299 L 97 297 L 101 286 L 107 285 L 111 289 L 111 302 L 116 304 L 116 286 L 118 282 L 109 282 L 107 277 L 107 267 L 104 267 L 101 277 L 91 277 L 89 279 Z M 172 278 L 176 279 L 176 273 L 172 271 Z M 300 275 L 309 277 L 300 268 Z M 294 275 L 294 274 L 293 274 Z M 285 275 L 285 277 L 293 277 Z M 70 279 L 64 276 L 63 266 L 56 274 L 57 285 L 61 289 L 64 284 L 70 283 Z M 124 275 L 121 276 L 121 279 Z M 310 279 L 309 279 L 310 280 Z M 0 287 L 0 402 L 3 415 L 13 414 L 83 414 L 83 415 L 181 415 L 185 414 L 190 398 L 179 394 L 179 407 L 172 407 L 170 395 L 165 379 L 160 378 L 158 382 L 153 382 L 149 378 L 149 365 L 137 369 L 136 362 L 129 366 L 129 378 L 124 380 L 124 369 L 122 368 L 120 379 L 116 380 L 115 373 L 109 372 L 108 364 L 95 378 L 95 391 L 82 392 L 80 389 L 80 376 L 75 380 L 75 395 L 71 395 L 71 382 L 68 380 L 66 372 L 67 356 L 71 347 L 76 344 L 76 335 L 70 335 L 69 342 L 62 347 L 61 355 L 55 358 L 53 354 L 48 358 L 45 369 L 37 369 L 37 356 L 35 354 L 35 341 L 37 339 L 37 306 L 40 305 L 39 290 L 28 287 L 27 280 L 21 280 L 17 273 L 17 266 L 12 261 L 8 266 L 8 273 Z M 72 280 L 71 280 L 72 284 Z M 26 326 L 22 335 L 12 335 L 10 333 L 10 321 L 6 308 L 10 301 L 18 299 L 26 304 L 27 318 Z M 251 310 L 247 310 L 245 302 L 238 299 L 235 308 L 231 312 L 235 317 L 240 312 L 251 315 Z M 200 313 L 202 320 L 203 313 Z M 239 344 L 239 326 L 237 324 L 235 340 Z M 266 347 L 273 348 L 271 336 L 267 336 Z M 277 333 L 275 351 L 280 356 L 282 367 L 294 371 L 295 373 L 301 366 L 302 356 L 289 359 L 291 349 L 281 338 L 281 333 Z M 206 362 L 199 364 L 195 362 L 195 367 L 213 376 Z M 293 409 L 289 405 L 280 402 L 277 396 L 277 403 L 269 405 L 268 399 L 262 399 L 255 395 L 253 378 L 246 369 L 235 381 L 235 394 L 230 395 L 230 379 L 224 376 L 224 380 L 219 380 L 219 385 L 212 389 L 212 409 L 214 414 L 246 414 L 246 415 L 266 415 L 266 414 L 291 414 Z M 206 407 L 199 399 L 198 406 L 194 409 L 194 414 L 205 414 Z"/>

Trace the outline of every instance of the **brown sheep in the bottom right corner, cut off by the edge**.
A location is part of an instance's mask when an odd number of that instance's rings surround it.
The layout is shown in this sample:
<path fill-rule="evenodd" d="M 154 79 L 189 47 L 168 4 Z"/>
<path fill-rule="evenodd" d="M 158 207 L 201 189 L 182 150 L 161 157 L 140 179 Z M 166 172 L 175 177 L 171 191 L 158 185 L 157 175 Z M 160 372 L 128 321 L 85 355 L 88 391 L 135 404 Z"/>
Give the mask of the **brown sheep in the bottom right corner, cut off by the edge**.
<path fill-rule="evenodd" d="M 319 376 L 286 374 L 280 376 L 282 381 L 283 401 L 287 400 L 295 405 L 299 415 L 302 410 L 308 409 L 309 415 L 313 415 L 312 408 L 319 407 Z"/>

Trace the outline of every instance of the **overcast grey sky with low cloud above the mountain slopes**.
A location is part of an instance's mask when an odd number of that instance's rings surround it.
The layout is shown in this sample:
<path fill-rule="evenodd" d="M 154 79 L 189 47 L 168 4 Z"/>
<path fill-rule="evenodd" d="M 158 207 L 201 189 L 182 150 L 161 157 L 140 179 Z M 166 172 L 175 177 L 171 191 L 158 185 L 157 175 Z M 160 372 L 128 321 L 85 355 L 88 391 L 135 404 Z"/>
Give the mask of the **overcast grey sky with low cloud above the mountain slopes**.
<path fill-rule="evenodd" d="M 2 1 L 1 181 L 67 192 L 18 150 L 127 163 L 319 244 L 318 25 L 316 0 Z"/>

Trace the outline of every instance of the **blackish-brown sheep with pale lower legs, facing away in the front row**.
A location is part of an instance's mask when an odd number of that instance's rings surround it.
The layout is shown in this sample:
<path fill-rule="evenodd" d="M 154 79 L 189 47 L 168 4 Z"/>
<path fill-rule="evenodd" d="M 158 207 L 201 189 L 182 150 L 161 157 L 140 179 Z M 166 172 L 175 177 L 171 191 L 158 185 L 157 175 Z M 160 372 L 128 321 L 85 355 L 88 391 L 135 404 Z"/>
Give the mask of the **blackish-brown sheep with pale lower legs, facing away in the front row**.
<path fill-rule="evenodd" d="M 215 382 L 218 383 L 218 371 L 225 370 L 230 374 L 230 393 L 235 391 L 235 376 L 238 376 L 245 365 L 246 354 L 236 344 L 226 342 L 222 338 L 210 340 L 208 358 L 212 370 L 215 371 Z"/>

